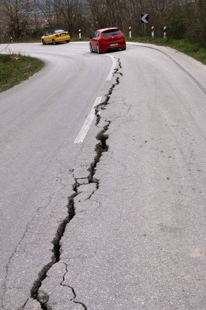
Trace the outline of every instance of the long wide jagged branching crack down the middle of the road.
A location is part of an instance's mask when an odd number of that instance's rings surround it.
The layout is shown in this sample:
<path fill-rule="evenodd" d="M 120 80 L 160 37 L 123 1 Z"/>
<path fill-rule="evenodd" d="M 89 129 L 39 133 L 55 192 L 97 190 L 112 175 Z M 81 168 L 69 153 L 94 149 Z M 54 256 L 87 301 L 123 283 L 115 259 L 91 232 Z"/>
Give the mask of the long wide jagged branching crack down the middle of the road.
<path fill-rule="evenodd" d="M 121 63 L 120 60 L 118 59 L 118 68 L 114 70 L 114 74 L 118 74 L 120 76 L 122 76 L 122 73 L 119 72 L 119 69 L 122 68 L 121 67 Z M 110 88 L 109 88 L 109 92 L 107 95 L 105 95 L 105 101 L 103 103 L 100 103 L 96 106 L 95 108 L 95 115 L 96 115 L 96 123 L 95 125 L 98 126 L 101 116 L 100 116 L 100 111 L 104 110 L 106 108 L 106 105 L 109 104 L 109 99 L 110 99 L 110 95 L 112 94 L 112 91 L 114 89 L 114 87 L 116 85 L 119 84 L 119 76 L 116 78 L 116 83 L 114 83 Z M 100 141 L 98 144 L 96 144 L 96 148 L 95 148 L 95 152 L 96 152 L 96 156 L 94 157 L 93 162 L 90 164 L 90 167 L 88 168 L 89 171 L 89 175 L 88 175 L 88 183 L 96 183 L 96 189 L 94 191 L 92 191 L 92 194 L 87 198 L 90 199 L 90 197 L 93 195 L 93 193 L 98 189 L 99 187 L 99 180 L 95 178 L 95 172 L 96 172 L 96 166 L 97 163 L 100 161 L 100 158 L 102 156 L 103 152 L 107 152 L 109 146 L 106 144 L 106 140 L 108 139 L 109 135 L 106 135 L 106 131 L 109 128 L 110 125 L 110 121 L 105 120 L 106 125 L 103 127 L 103 129 L 97 134 L 96 139 L 98 141 Z M 73 170 L 71 171 L 71 174 L 73 175 L 74 179 L 75 176 L 73 174 Z M 65 232 L 66 226 L 67 224 L 71 221 L 71 219 L 75 216 L 75 206 L 74 206 L 74 198 L 79 195 L 78 192 L 78 188 L 79 188 L 80 184 L 78 183 L 78 180 L 75 179 L 75 183 L 73 184 L 73 191 L 74 193 L 68 197 L 68 205 L 67 205 L 67 209 L 68 209 L 68 215 L 67 217 L 62 221 L 62 223 L 59 225 L 58 230 L 56 232 L 56 236 L 53 240 L 53 259 L 50 263 L 48 263 L 42 270 L 41 272 L 39 272 L 39 277 L 38 279 L 34 282 L 33 287 L 31 289 L 31 297 L 33 299 L 36 299 L 37 301 L 40 302 L 41 304 L 41 309 L 44 310 L 50 310 L 50 306 L 48 306 L 48 301 L 49 301 L 49 295 L 45 294 L 44 298 L 39 298 L 38 295 L 38 290 L 41 287 L 42 281 L 47 277 L 47 272 L 49 271 L 49 269 L 55 264 L 58 263 L 60 260 L 60 255 L 61 255 L 61 246 L 60 246 L 60 240 Z M 66 264 L 65 264 L 66 265 Z M 67 266 L 67 265 L 66 265 Z M 67 273 L 67 267 L 66 267 L 66 272 Z M 60 283 L 60 286 L 66 286 L 63 284 L 64 282 L 64 276 L 63 275 L 63 280 Z M 73 287 L 71 286 L 67 286 L 68 288 L 70 288 L 73 292 L 73 298 L 70 300 L 74 303 L 79 303 L 83 306 L 83 308 L 85 310 L 87 310 L 87 307 L 84 303 L 81 302 L 77 302 L 75 301 L 76 298 L 76 293 Z"/>

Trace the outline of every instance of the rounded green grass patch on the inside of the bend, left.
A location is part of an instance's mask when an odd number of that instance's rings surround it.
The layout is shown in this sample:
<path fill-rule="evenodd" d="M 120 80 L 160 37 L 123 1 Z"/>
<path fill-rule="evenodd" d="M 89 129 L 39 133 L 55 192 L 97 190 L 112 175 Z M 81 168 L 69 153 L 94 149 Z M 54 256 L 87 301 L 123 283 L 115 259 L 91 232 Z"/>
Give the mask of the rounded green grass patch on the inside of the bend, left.
<path fill-rule="evenodd" d="M 43 68 L 44 63 L 21 54 L 0 54 L 0 92 L 28 79 Z"/>

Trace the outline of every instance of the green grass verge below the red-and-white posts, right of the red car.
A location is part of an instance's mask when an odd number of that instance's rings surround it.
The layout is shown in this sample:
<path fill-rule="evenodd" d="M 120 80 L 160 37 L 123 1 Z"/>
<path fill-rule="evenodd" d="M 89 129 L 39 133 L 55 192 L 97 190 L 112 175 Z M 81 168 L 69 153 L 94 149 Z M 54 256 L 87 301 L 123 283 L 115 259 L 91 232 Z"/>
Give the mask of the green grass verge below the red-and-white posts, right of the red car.
<path fill-rule="evenodd" d="M 172 47 L 186 55 L 191 56 L 192 58 L 199 60 L 201 63 L 206 64 L 206 48 L 202 47 L 199 43 L 191 43 L 186 39 L 176 40 L 172 38 L 141 38 L 141 37 L 133 37 L 133 38 L 125 38 L 128 42 L 142 42 L 142 43 L 150 43 L 155 45 L 162 45 Z"/>

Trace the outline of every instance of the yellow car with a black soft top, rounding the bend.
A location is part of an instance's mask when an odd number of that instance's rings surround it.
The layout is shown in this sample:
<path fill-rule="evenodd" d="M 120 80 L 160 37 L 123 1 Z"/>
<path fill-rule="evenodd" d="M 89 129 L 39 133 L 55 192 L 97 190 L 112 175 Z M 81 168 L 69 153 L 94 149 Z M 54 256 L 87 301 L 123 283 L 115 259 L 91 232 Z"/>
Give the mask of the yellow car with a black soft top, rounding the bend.
<path fill-rule="evenodd" d="M 41 42 L 43 45 L 46 43 L 53 43 L 54 45 L 58 42 L 66 41 L 69 43 L 70 35 L 68 31 L 62 29 L 49 30 L 47 33 L 41 37 Z"/>

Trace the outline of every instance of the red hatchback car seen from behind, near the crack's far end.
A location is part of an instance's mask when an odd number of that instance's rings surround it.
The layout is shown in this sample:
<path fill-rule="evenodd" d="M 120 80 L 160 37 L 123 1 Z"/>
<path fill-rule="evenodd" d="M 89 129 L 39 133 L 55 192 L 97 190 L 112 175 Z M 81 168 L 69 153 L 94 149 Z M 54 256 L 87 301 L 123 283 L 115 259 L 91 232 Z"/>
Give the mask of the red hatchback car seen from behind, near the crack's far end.
<path fill-rule="evenodd" d="M 126 50 L 124 35 L 118 28 L 99 29 L 93 34 L 93 37 L 90 37 L 89 49 L 91 53 L 97 51 L 100 54 L 118 48 Z"/>

